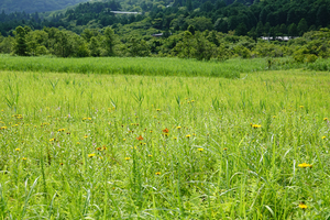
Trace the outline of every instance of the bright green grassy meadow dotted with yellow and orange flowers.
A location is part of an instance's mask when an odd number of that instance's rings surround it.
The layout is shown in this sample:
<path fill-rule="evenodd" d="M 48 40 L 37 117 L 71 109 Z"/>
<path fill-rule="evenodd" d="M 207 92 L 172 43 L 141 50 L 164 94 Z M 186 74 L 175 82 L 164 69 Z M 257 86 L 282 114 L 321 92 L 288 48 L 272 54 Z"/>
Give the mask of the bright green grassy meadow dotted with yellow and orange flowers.
<path fill-rule="evenodd" d="M 329 73 L 152 61 L 148 76 L 1 63 L 1 219 L 329 218 Z M 204 68 L 243 74 L 173 74 Z"/>

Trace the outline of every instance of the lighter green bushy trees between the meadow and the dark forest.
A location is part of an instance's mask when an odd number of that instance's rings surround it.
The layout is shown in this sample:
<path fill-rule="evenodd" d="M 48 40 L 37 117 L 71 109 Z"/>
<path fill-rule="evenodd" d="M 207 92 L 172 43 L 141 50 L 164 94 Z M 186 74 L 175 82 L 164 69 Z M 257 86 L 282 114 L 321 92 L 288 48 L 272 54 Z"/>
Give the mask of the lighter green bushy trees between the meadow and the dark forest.
<path fill-rule="evenodd" d="M 18 26 L 14 37 L 0 36 L 0 53 L 57 57 L 177 56 L 199 61 L 293 56 L 296 62 L 315 62 L 318 57 L 330 56 L 330 30 L 307 32 L 302 37 L 285 43 L 255 42 L 249 36 L 217 31 L 199 32 L 193 25 L 167 37 L 120 37 L 111 28 L 86 29 L 78 35 L 56 28 L 32 31 L 29 26 Z"/>

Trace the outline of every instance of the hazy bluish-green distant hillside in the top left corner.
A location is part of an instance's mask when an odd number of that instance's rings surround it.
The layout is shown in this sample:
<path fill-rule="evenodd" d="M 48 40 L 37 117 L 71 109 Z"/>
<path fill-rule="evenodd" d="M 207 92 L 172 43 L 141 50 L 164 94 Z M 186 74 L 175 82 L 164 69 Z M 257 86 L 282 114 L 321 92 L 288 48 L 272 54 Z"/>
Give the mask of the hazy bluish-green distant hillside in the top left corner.
<path fill-rule="evenodd" d="M 65 9 L 88 0 L 1 0 L 0 11 L 4 13 L 11 12 L 45 12 Z"/>

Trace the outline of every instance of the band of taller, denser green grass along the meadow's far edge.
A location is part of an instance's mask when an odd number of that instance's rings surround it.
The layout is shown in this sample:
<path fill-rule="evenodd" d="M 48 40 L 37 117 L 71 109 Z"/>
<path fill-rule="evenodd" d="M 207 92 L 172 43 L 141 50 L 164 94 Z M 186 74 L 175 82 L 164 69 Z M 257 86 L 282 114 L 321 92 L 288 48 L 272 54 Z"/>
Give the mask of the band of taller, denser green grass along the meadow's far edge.
<path fill-rule="evenodd" d="M 264 59 L 230 59 L 218 63 L 150 57 L 51 58 L 0 55 L 0 69 L 20 72 L 239 78 L 241 73 L 265 68 Z"/>

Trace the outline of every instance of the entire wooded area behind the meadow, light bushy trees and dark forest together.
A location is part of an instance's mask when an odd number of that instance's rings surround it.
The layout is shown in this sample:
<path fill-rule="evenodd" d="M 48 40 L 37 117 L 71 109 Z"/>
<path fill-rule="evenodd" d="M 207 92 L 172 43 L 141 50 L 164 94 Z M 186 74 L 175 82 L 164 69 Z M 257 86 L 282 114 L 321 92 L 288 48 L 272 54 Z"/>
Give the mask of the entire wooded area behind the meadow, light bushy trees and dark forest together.
<path fill-rule="evenodd" d="M 112 11 L 139 14 L 116 14 Z M 0 52 L 18 55 L 328 57 L 330 0 L 80 3 L 51 16 L 0 14 Z M 157 36 L 155 35 L 158 33 Z M 260 36 L 288 36 L 266 42 Z M 297 36 L 302 36 L 298 37 Z M 318 37 L 323 37 L 322 40 Z"/>

